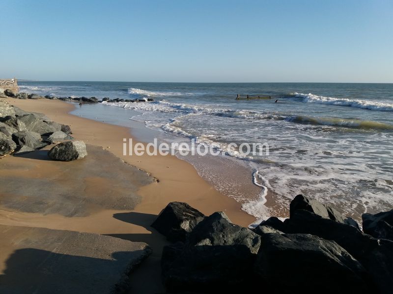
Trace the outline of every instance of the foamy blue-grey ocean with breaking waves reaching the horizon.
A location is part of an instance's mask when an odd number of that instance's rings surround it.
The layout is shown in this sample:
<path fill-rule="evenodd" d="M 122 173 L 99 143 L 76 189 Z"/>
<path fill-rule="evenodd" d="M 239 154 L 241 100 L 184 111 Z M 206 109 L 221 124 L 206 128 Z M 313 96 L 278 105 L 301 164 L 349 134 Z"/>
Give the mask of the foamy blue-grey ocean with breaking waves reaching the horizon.
<path fill-rule="evenodd" d="M 362 213 L 393 208 L 393 84 L 19 84 L 21 92 L 58 97 L 153 98 L 86 105 L 75 114 L 108 121 L 121 107 L 114 123 L 144 123 L 160 141 L 194 138 L 215 150 L 226 150 L 230 143 L 268 144 L 269 155 L 262 156 L 178 154 L 258 221 L 288 217 L 289 202 L 298 194 L 357 220 Z M 237 94 L 271 99 L 236 100 Z"/>

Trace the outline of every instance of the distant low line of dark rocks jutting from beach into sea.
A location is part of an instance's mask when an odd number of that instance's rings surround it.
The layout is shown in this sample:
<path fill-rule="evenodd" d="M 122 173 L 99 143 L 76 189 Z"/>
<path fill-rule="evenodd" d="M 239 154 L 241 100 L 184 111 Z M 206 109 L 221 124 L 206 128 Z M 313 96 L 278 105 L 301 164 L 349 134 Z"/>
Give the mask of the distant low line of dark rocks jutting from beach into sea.
<path fill-rule="evenodd" d="M 153 98 L 145 99 L 122 99 L 114 98 L 110 99 L 108 97 L 102 98 L 101 100 L 96 97 L 56 97 L 56 96 L 40 96 L 37 94 L 28 93 L 13 93 L 11 90 L 6 90 L 4 93 L 0 93 L 0 98 L 15 98 L 15 99 L 51 99 L 51 100 L 63 100 L 63 101 L 75 101 L 79 103 L 101 103 L 101 102 L 151 102 L 154 101 Z"/>

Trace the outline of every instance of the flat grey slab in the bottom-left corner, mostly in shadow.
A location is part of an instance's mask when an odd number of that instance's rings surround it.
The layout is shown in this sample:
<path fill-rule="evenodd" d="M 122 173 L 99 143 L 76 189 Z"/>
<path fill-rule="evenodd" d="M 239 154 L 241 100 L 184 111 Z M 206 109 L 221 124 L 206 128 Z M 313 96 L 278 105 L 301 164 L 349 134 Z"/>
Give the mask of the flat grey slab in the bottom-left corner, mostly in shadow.
<path fill-rule="evenodd" d="M 127 293 L 145 243 L 73 231 L 0 225 L 0 293 Z"/>

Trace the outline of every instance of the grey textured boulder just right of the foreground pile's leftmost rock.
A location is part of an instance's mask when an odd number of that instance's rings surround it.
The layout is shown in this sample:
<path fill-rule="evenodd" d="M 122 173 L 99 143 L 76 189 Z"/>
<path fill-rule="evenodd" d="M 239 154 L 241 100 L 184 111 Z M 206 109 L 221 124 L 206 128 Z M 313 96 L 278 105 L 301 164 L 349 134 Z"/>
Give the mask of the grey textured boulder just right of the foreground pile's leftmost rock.
<path fill-rule="evenodd" d="M 242 245 L 256 254 L 261 240 L 250 229 L 231 223 L 224 212 L 215 212 L 197 224 L 187 245 Z"/>

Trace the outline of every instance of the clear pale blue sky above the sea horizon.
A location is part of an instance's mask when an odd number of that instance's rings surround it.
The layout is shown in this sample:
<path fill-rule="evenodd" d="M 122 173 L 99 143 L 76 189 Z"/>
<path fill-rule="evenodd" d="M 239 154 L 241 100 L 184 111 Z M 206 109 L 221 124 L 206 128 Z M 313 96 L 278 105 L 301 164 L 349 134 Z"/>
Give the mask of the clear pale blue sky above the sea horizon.
<path fill-rule="evenodd" d="M 0 78 L 393 83 L 392 0 L 0 0 Z"/>

